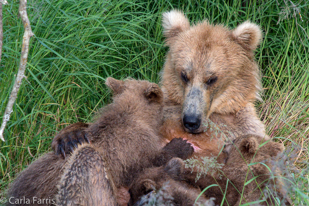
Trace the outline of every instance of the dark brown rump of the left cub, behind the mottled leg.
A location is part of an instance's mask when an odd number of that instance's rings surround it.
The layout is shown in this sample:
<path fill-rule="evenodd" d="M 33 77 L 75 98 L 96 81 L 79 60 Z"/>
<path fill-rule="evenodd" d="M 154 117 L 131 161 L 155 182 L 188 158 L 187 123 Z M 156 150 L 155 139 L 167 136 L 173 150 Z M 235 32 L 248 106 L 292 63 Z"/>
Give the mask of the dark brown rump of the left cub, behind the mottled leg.
<path fill-rule="evenodd" d="M 39 206 L 38 202 L 33 202 L 33 197 L 38 199 L 51 199 L 50 204 L 53 205 L 56 202 L 55 194 L 57 193 L 57 183 L 60 180 L 60 175 L 65 168 L 66 161 L 61 155 L 57 155 L 54 152 L 49 152 L 32 162 L 25 170 L 23 170 L 17 178 L 11 183 L 7 190 L 7 200 L 10 197 L 15 199 L 29 199 L 31 205 Z M 15 202 L 15 201 L 11 201 Z M 6 205 L 29 205 L 23 204 L 23 201 L 19 201 L 21 204 L 10 204 L 9 201 Z"/>

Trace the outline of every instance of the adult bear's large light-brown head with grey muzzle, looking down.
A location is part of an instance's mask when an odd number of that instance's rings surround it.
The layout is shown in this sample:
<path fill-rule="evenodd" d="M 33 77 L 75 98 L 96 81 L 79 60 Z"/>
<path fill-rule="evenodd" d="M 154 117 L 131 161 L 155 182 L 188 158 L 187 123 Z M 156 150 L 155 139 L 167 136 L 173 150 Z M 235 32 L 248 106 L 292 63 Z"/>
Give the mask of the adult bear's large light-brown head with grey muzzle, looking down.
<path fill-rule="evenodd" d="M 259 99 L 258 25 L 246 21 L 230 30 L 203 21 L 190 26 L 182 12 L 172 10 L 163 14 L 163 34 L 169 47 L 161 73 L 165 100 L 183 105 L 188 132 L 203 131 L 200 126 L 212 112 L 228 114 Z"/>

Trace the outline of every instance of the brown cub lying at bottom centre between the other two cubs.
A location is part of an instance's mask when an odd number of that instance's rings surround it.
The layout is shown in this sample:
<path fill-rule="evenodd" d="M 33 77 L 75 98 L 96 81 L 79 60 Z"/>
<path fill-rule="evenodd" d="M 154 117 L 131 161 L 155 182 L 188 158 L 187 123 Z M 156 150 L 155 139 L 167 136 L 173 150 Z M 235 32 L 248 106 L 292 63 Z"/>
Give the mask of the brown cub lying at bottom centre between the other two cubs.
<path fill-rule="evenodd" d="M 165 166 L 145 169 L 130 187 L 128 206 L 146 205 L 154 198 L 157 205 L 193 206 L 201 190 L 180 182 L 183 170 L 184 162 L 179 158 L 171 159 Z M 150 191 L 157 195 L 143 199 Z M 201 196 L 195 205 L 214 206 L 214 202 Z"/>

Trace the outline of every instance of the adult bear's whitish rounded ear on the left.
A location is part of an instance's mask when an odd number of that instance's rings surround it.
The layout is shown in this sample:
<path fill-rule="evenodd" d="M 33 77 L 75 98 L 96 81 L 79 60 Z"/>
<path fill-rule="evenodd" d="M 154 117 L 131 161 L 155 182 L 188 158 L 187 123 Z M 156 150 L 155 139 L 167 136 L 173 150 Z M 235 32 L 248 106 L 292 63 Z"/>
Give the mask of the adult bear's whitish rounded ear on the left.
<path fill-rule="evenodd" d="M 163 35 L 166 37 L 167 44 L 169 44 L 173 37 L 187 30 L 190 23 L 183 12 L 174 9 L 163 13 L 162 26 Z"/>

